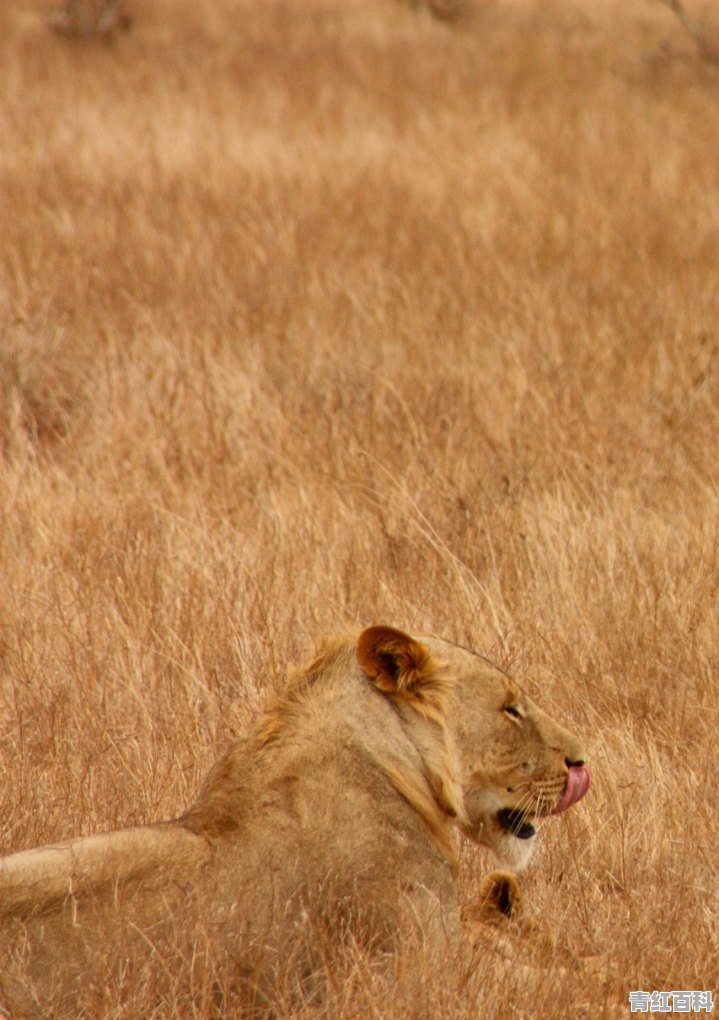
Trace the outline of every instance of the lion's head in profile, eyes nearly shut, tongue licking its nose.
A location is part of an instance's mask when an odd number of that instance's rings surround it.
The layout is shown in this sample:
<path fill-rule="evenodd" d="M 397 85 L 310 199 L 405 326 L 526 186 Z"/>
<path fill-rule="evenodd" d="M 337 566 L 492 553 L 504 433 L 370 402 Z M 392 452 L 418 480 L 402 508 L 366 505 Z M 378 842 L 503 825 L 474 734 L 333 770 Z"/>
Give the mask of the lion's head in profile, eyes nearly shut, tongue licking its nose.
<path fill-rule="evenodd" d="M 459 803 L 451 811 L 465 835 L 492 850 L 503 867 L 525 867 L 537 822 L 566 811 L 589 787 L 578 738 L 510 676 L 458 645 L 370 627 L 357 656 L 370 675 L 386 675 L 386 686 L 404 670 L 405 699 L 412 704 L 414 695 L 415 709 L 426 711 L 430 695 L 442 692 L 445 738 L 458 759 L 443 783 L 445 799 L 453 800 L 454 787 Z"/>

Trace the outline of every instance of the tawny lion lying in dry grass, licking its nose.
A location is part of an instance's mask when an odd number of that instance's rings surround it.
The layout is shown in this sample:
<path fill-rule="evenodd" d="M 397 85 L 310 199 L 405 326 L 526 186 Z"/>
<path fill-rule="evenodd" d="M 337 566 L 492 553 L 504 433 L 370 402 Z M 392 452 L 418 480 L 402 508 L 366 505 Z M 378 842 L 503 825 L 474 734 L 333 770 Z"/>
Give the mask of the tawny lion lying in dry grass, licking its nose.
<path fill-rule="evenodd" d="M 388 960 L 412 934 L 452 957 L 454 832 L 507 869 L 486 887 L 509 914 L 538 826 L 588 785 L 578 740 L 480 656 L 383 625 L 345 635 L 177 818 L 0 860 L 0 1003 L 98 1012 L 112 975 L 172 947 L 188 994 L 260 1013 L 280 977 L 316 994 L 342 947 Z"/>

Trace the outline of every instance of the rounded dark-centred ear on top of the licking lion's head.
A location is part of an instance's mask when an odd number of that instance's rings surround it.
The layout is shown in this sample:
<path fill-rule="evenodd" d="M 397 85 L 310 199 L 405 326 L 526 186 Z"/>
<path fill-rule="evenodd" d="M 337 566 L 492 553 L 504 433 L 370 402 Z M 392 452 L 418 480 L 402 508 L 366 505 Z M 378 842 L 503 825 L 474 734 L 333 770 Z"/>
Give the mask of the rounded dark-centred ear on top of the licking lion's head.
<path fill-rule="evenodd" d="M 389 694 L 412 694 L 436 673 L 429 650 L 394 627 L 363 630 L 357 642 L 357 661 L 379 690 Z"/>

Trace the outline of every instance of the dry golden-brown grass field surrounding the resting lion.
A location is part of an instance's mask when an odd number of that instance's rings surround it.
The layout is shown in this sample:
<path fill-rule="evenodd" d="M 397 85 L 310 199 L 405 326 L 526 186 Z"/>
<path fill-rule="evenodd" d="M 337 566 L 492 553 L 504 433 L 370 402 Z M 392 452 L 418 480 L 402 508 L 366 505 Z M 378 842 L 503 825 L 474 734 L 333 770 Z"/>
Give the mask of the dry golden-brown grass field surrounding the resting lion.
<path fill-rule="evenodd" d="M 431 630 L 594 776 L 556 948 L 436 1015 L 719 997 L 719 70 L 651 0 L 130 7 L 0 8 L 0 852 L 176 815 L 320 635 Z"/>

